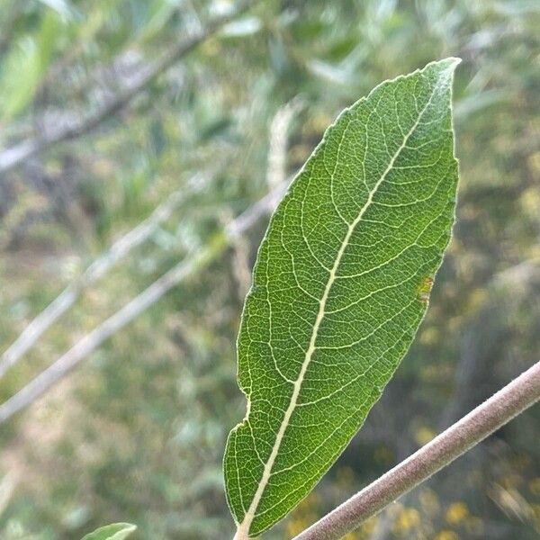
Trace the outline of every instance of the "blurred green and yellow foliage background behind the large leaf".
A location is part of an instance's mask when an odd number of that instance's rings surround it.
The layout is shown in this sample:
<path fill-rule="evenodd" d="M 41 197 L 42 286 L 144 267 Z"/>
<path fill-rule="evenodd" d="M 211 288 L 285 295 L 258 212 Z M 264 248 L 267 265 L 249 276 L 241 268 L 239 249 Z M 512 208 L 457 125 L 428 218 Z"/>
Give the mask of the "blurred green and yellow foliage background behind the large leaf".
<path fill-rule="evenodd" d="M 235 339 L 272 197 L 257 202 L 343 107 L 449 55 L 462 181 L 428 316 L 273 540 L 538 360 L 540 3 L 0 1 L 0 538 L 119 520 L 141 540 L 231 537 L 221 457 L 245 410 Z M 349 540 L 538 538 L 539 419 Z"/>

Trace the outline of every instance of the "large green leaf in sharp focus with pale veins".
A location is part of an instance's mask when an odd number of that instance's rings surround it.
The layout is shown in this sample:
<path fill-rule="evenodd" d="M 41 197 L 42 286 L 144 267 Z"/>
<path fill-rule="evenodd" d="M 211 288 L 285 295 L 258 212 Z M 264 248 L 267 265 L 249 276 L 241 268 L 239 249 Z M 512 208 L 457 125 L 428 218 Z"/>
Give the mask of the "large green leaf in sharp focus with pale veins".
<path fill-rule="evenodd" d="M 238 540 L 320 481 L 410 347 L 454 221 L 458 63 L 342 112 L 275 211 L 238 337 L 247 415 L 224 458 Z"/>

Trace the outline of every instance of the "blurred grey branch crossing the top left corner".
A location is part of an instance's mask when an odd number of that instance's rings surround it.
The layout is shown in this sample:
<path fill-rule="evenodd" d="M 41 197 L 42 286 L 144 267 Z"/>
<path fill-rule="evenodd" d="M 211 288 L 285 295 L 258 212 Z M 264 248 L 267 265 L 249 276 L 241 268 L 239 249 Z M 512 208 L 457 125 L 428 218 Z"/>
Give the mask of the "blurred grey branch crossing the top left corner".
<path fill-rule="evenodd" d="M 252 0 L 238 2 L 237 7 L 231 13 L 214 18 L 210 23 L 207 23 L 204 29 L 195 31 L 192 36 L 179 41 L 175 47 L 167 50 L 161 58 L 158 58 L 154 63 L 142 70 L 138 77 L 134 77 L 130 81 L 130 85 L 126 85 L 96 111 L 70 122 L 69 125 L 62 126 L 57 130 L 50 130 L 50 132 L 46 132 L 34 139 L 23 140 L 12 148 L 5 149 L 0 153 L 0 174 L 20 165 L 25 159 L 38 154 L 44 149 L 51 148 L 66 140 L 77 139 L 86 132 L 94 130 L 95 127 L 130 103 L 157 76 L 160 76 L 203 41 L 214 35 L 225 23 L 229 23 L 238 14 L 244 13 L 252 4 Z"/>

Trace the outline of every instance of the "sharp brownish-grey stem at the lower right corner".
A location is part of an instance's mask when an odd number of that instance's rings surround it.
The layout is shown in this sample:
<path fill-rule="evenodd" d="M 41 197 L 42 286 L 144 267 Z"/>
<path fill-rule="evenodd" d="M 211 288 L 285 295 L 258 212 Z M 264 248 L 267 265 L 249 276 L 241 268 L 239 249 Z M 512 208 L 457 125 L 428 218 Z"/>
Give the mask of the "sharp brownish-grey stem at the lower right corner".
<path fill-rule="evenodd" d="M 293 540 L 338 540 L 540 399 L 540 362 Z"/>

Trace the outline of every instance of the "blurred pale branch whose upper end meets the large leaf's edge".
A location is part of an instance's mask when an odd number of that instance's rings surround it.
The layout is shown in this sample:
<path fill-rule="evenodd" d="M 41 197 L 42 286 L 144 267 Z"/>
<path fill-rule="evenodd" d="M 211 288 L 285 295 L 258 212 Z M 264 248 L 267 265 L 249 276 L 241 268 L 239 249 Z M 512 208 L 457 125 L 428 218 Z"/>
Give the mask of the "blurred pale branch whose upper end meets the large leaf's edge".
<path fill-rule="evenodd" d="M 202 268 L 208 266 L 232 242 L 236 241 L 247 229 L 250 229 L 260 217 L 274 209 L 275 202 L 283 195 L 287 184 L 287 182 L 284 182 L 276 186 L 274 190 L 266 194 L 247 211 L 240 214 L 238 218 L 230 221 L 223 229 L 223 232 L 218 237 L 213 238 L 207 246 L 193 252 L 191 257 L 186 257 L 184 261 L 174 266 L 151 284 L 148 289 L 121 308 L 120 311 L 117 311 L 92 332 L 86 334 L 65 355 L 60 356 L 53 365 L 41 372 L 24 386 L 20 392 L 17 392 L 12 398 L 0 405 L 0 424 L 37 400 L 67 375 L 81 360 L 99 347 L 103 341 L 138 317 L 140 313 L 147 310 L 175 285 L 195 272 L 201 272 Z"/>

